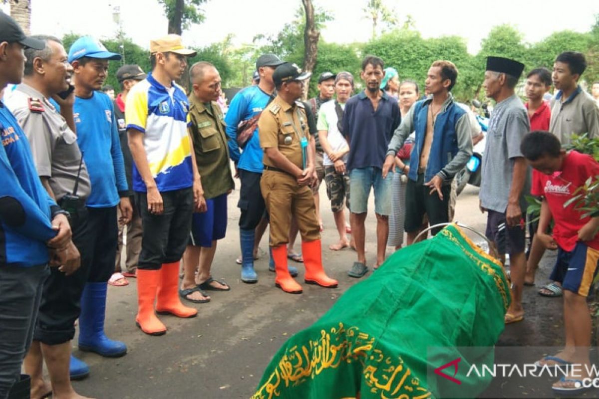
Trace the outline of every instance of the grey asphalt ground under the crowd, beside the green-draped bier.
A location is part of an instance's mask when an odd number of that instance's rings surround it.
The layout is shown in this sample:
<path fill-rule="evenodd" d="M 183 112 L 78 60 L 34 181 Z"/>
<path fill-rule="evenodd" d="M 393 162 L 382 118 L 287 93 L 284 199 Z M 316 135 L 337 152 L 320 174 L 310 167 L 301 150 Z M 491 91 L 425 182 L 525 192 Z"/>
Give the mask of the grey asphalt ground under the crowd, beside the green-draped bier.
<path fill-rule="evenodd" d="M 456 220 L 484 232 L 486 215 L 478 209 L 478 190 L 468 186 L 458 198 Z M 135 279 L 126 287 L 110 287 L 106 331 L 108 336 L 123 340 L 129 348 L 125 357 L 105 359 L 95 354 L 74 354 L 91 368 L 89 378 L 75 382 L 80 394 L 96 398 L 248 398 L 253 394 L 264 368 L 279 347 L 295 332 L 316 321 L 347 288 L 359 280 L 349 278 L 347 269 L 356 259 L 350 249 L 329 251 L 337 233 L 329 211 L 324 184 L 320 189 L 325 230 L 323 263 L 329 275 L 338 279 L 334 290 L 304 285 L 304 294 L 283 293 L 274 287 L 274 273 L 268 272 L 265 255 L 267 237 L 262 240 L 261 258 L 256 261 L 258 284 L 247 285 L 239 280 L 237 191 L 229 197 L 229 225 L 225 239 L 218 244 L 213 265 L 214 278 L 223 278 L 231 285 L 228 293 L 214 293 L 207 304 L 190 304 L 199 310 L 193 319 L 160 316 L 168 327 L 161 337 L 147 336 L 135 326 L 137 311 Z M 367 260 L 376 259 L 376 218 L 374 202 L 367 218 Z M 480 240 L 479 240 L 480 241 Z M 298 248 L 299 249 L 299 248 Z M 389 253 L 391 248 L 389 248 Z M 548 254 L 541 267 L 544 282 L 552 264 Z M 299 282 L 303 268 L 299 267 Z M 366 278 L 368 275 L 366 276 Z M 450 285 L 447 287 L 450 289 Z M 510 325 L 498 345 L 555 346 L 561 342 L 561 300 L 545 299 L 533 287 L 524 293 L 527 315 L 523 322 Z M 74 343 L 76 342 L 76 339 Z M 533 360 L 534 361 L 534 360 Z M 492 395 L 504 397 L 521 392 L 510 386 L 491 386 Z M 549 391 L 549 385 L 539 389 Z M 527 395 L 527 394 L 524 394 Z M 536 397 L 528 394 L 527 397 Z"/>

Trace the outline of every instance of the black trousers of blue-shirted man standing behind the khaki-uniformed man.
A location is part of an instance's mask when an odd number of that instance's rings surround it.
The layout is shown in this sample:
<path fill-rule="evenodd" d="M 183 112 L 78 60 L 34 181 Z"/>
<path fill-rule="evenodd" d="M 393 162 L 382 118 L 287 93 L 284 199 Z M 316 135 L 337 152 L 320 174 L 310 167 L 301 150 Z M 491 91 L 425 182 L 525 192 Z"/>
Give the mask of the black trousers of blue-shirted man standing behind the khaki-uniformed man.
<path fill-rule="evenodd" d="M 250 172 L 239 169 L 241 188 L 239 191 L 239 202 L 237 207 L 241 211 L 239 217 L 239 228 L 241 230 L 254 230 L 264 216 L 266 205 L 260 190 L 260 179 L 262 173 Z"/>

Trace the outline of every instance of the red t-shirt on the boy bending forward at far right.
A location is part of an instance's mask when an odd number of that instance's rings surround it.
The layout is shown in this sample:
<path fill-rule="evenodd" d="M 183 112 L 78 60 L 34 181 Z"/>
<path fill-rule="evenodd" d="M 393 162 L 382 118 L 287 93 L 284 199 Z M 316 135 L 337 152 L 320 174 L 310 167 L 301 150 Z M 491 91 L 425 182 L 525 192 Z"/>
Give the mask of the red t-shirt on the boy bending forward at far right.
<path fill-rule="evenodd" d="M 578 240 L 578 230 L 591 220 L 590 217 L 580 218 L 585 211 L 574 209 L 575 203 L 571 203 L 567 208 L 564 208 L 564 203 L 572 197 L 578 187 L 585 184 L 586 179 L 598 175 L 599 163 L 593 157 L 570 151 L 564 158 L 561 172 L 555 172 L 550 176 L 539 173 L 539 178 L 533 182 L 531 193 L 547 199 L 547 205 L 555 221 L 553 239 L 564 251 L 574 249 Z M 599 249 L 599 234 L 586 244 Z"/>

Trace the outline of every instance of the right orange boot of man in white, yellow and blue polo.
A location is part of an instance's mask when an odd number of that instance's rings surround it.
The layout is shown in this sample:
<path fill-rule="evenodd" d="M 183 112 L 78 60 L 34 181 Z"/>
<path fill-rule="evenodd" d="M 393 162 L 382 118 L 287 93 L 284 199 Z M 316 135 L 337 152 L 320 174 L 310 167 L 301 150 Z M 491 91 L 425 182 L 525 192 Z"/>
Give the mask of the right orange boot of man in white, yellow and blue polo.
<path fill-rule="evenodd" d="M 158 283 L 156 312 L 171 313 L 171 315 L 183 318 L 198 315 L 197 309 L 184 306 L 179 299 L 179 262 L 162 264 Z"/>

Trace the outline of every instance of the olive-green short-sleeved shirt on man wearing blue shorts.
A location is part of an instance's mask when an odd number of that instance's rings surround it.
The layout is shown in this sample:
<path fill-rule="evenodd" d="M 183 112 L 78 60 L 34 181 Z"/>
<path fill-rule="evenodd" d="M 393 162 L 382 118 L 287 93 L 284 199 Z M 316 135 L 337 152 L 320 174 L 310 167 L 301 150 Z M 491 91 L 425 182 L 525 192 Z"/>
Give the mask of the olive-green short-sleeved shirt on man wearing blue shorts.
<path fill-rule="evenodd" d="M 189 132 L 193 142 L 195 162 L 202 177 L 206 199 L 226 194 L 235 187 L 229 166 L 226 124 L 219 105 L 210 106 L 189 96 Z"/>

